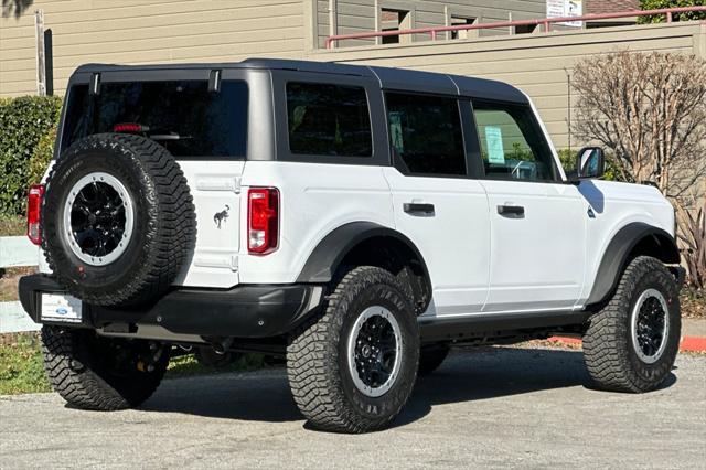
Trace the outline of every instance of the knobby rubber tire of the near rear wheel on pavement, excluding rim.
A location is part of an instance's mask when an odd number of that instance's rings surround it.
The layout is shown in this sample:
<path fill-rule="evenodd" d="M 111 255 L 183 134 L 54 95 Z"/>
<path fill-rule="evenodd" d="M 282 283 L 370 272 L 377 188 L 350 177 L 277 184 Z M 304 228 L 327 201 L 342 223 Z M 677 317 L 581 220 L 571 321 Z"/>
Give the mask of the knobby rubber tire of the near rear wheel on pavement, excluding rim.
<path fill-rule="evenodd" d="M 406 289 L 391 273 L 363 266 L 352 269 L 328 298 L 325 310 L 299 328 L 287 349 L 287 374 L 297 406 L 314 428 L 367 432 L 385 428 L 414 387 L 419 361 L 419 329 Z M 347 366 L 346 344 L 357 317 L 384 306 L 402 330 L 400 368 L 384 395 L 356 388 Z"/>

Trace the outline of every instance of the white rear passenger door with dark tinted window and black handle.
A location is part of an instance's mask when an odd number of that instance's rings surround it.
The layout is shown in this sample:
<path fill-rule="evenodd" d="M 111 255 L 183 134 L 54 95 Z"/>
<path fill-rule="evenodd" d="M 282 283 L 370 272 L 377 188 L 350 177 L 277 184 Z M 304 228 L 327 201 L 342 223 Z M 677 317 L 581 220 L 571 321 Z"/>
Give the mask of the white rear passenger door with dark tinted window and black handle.
<path fill-rule="evenodd" d="M 395 225 L 421 252 L 434 290 L 425 316 L 479 312 L 488 293 L 490 226 L 483 186 L 471 179 L 456 96 L 385 95 L 394 167 L 384 168 Z"/>

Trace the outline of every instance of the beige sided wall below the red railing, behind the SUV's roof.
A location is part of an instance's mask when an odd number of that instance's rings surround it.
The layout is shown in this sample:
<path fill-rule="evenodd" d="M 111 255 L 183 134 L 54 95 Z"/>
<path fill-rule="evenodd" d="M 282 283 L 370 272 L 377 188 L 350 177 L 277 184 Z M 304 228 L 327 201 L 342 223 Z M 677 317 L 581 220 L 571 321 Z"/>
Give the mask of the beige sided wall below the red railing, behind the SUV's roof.
<path fill-rule="evenodd" d="M 569 143 L 567 73 L 582 57 L 625 49 L 696 54 L 706 58 L 706 23 L 345 47 L 314 52 L 307 58 L 419 68 L 511 83 L 530 95 L 555 145 L 565 148 Z M 573 147 L 576 145 L 573 142 Z"/>

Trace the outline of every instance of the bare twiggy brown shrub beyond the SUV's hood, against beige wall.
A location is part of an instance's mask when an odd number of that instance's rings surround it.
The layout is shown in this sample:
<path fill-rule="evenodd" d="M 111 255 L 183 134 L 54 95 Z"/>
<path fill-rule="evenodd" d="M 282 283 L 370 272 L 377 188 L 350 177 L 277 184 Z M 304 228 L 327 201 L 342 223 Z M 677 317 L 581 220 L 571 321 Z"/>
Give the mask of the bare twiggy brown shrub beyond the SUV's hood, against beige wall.
<path fill-rule="evenodd" d="M 599 141 L 624 181 L 651 182 L 683 205 L 706 180 L 706 62 L 619 52 L 581 61 L 575 132 Z"/>

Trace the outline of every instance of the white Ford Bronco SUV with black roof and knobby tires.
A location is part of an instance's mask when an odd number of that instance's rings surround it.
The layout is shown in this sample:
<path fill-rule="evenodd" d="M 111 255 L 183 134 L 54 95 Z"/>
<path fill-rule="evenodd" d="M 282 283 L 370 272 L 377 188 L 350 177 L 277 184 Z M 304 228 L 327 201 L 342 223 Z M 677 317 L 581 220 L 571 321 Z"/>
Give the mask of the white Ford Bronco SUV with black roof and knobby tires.
<path fill-rule="evenodd" d="M 567 175 L 493 81 L 280 60 L 72 76 L 22 278 L 71 405 L 146 400 L 190 348 L 286 356 L 320 429 L 387 426 L 450 345 L 584 339 L 598 386 L 654 389 L 680 341 L 674 212 Z"/>

